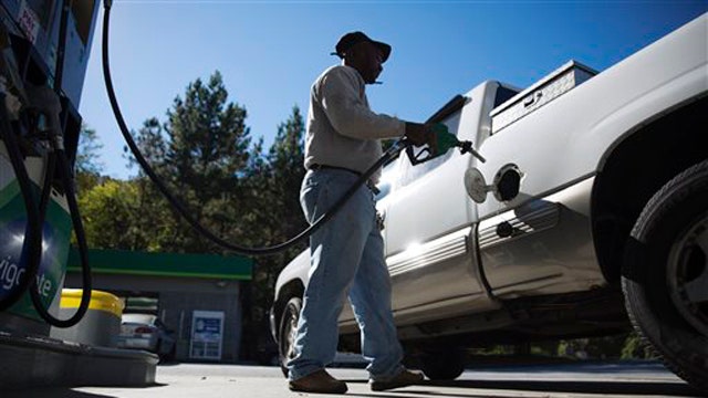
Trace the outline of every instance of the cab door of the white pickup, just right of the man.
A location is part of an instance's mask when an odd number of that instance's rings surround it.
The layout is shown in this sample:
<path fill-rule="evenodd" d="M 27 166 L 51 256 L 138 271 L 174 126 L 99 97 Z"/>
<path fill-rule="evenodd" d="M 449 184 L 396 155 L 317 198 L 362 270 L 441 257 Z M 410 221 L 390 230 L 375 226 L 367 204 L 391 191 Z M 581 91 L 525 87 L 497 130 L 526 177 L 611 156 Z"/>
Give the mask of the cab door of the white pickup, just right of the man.
<path fill-rule="evenodd" d="M 441 122 L 457 132 L 461 115 L 460 108 Z M 491 305 L 469 244 L 475 219 L 464 186 L 469 156 L 450 150 L 416 166 L 405 155 L 400 161 L 383 231 L 397 323 Z"/>

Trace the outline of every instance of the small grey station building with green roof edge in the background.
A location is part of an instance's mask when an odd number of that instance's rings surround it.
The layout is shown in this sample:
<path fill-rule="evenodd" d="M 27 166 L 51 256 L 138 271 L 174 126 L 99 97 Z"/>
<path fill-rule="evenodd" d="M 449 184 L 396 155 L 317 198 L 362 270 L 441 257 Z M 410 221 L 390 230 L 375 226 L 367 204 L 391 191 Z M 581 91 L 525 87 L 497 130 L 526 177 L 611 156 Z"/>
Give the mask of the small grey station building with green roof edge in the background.
<path fill-rule="evenodd" d="M 156 314 L 174 331 L 177 360 L 239 360 L 241 284 L 252 277 L 251 259 L 90 250 L 88 264 L 94 290 L 121 297 L 124 313 Z M 75 249 L 69 254 L 64 287 L 82 287 Z"/>

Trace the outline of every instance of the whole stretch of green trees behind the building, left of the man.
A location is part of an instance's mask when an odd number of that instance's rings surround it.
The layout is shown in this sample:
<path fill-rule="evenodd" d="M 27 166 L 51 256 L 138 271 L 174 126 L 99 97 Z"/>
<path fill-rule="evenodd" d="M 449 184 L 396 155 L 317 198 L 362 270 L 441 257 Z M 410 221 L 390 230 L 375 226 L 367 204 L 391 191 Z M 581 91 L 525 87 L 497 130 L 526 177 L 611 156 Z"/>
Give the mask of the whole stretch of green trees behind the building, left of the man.
<path fill-rule="evenodd" d="M 239 245 L 264 247 L 306 227 L 299 201 L 305 172 L 304 122 L 296 106 L 278 126 L 266 154 L 262 138 L 250 136 L 246 108 L 228 102 L 219 72 L 206 83 L 190 83 L 166 116 L 164 123 L 156 117 L 145 121 L 133 135 L 155 172 L 205 228 Z M 86 138 L 95 143 L 95 133 Z M 198 235 L 142 170 L 128 181 L 91 179 L 100 170 L 92 168 L 96 158 L 91 155 L 98 147 L 82 148 L 86 156 L 79 176 L 92 182 L 82 189 L 80 206 L 92 248 L 227 252 Z M 267 312 L 275 277 L 306 244 L 254 259 L 253 279 L 242 289 L 244 350 L 270 342 Z"/>

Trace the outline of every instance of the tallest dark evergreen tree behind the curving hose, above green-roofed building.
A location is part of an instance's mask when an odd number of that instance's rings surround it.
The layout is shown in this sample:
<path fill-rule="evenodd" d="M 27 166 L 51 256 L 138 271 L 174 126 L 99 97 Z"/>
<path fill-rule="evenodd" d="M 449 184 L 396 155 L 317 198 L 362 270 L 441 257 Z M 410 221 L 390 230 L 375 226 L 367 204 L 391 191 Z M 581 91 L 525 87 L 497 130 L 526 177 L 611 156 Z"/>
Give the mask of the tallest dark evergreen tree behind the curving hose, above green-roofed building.
<path fill-rule="evenodd" d="M 243 189 L 253 153 L 246 108 L 228 103 L 228 93 L 217 71 L 202 83 L 187 86 L 167 111 L 167 121 L 145 122 L 137 143 L 155 171 L 205 228 L 227 239 L 246 233 L 248 191 Z M 144 179 L 144 175 L 139 178 Z M 144 193 L 158 202 L 147 185 Z M 175 252 L 222 252 L 199 237 L 175 211 L 169 233 L 160 234 L 159 247 Z"/>

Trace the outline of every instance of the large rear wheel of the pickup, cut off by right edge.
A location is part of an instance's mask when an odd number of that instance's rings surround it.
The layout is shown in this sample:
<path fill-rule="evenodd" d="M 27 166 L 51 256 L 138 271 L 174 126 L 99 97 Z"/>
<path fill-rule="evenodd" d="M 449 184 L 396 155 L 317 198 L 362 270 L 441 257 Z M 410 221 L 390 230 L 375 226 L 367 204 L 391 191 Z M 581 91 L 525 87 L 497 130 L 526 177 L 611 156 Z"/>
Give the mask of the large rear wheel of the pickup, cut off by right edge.
<path fill-rule="evenodd" d="M 632 230 L 622 274 L 635 329 L 669 369 L 708 390 L 708 160 L 649 200 Z"/>

